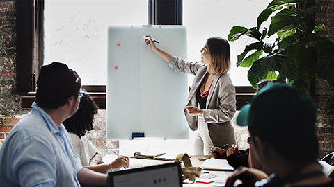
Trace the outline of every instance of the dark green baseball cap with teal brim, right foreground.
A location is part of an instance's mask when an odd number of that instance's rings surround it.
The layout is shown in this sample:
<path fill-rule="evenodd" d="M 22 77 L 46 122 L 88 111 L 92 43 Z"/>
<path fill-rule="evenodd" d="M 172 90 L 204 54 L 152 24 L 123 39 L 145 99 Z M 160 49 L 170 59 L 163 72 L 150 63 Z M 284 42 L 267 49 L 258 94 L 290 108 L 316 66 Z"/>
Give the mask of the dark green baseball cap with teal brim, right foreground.
<path fill-rule="evenodd" d="M 253 136 L 276 141 L 295 136 L 300 141 L 315 138 L 315 122 L 316 109 L 310 97 L 283 83 L 260 89 L 237 116 L 237 124 L 248 125 Z"/>

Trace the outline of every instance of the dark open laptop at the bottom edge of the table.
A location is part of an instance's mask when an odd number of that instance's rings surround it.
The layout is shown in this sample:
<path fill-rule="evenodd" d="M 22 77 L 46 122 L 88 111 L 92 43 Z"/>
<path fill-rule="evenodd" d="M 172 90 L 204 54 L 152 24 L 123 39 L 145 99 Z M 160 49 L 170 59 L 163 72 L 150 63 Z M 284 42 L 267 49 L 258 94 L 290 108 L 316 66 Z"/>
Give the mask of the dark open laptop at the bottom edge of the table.
<path fill-rule="evenodd" d="M 182 187 L 180 162 L 108 173 L 108 187 Z"/>

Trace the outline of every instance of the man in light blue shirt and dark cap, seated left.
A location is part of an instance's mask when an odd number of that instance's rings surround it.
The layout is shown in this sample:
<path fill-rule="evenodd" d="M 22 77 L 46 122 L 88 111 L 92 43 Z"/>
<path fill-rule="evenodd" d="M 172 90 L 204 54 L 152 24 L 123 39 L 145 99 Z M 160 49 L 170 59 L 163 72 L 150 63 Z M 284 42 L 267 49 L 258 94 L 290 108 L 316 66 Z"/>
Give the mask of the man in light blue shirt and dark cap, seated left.
<path fill-rule="evenodd" d="M 79 105 L 81 79 L 67 65 L 42 66 L 36 101 L 0 149 L 0 186 L 106 186 L 106 174 L 77 166 L 63 121 Z"/>

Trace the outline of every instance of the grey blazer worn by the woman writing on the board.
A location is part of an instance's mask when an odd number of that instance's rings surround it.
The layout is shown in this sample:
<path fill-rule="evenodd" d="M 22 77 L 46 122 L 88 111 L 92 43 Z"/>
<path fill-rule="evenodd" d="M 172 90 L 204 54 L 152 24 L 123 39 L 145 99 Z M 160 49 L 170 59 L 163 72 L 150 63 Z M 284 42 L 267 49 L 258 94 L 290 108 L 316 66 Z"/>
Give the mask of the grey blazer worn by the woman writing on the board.
<path fill-rule="evenodd" d="M 180 57 L 172 56 L 169 66 L 182 73 L 195 75 L 193 84 L 186 100 L 186 106 L 198 107 L 196 91 L 207 73 L 207 65 L 200 62 L 189 62 Z M 216 75 L 207 97 L 207 109 L 203 109 L 205 123 L 208 125 L 209 136 L 215 146 L 223 146 L 228 143 L 229 147 L 235 143 L 232 118 L 236 111 L 235 89 L 230 76 Z M 189 116 L 184 109 L 186 121 L 191 130 L 198 128 L 198 116 Z"/>

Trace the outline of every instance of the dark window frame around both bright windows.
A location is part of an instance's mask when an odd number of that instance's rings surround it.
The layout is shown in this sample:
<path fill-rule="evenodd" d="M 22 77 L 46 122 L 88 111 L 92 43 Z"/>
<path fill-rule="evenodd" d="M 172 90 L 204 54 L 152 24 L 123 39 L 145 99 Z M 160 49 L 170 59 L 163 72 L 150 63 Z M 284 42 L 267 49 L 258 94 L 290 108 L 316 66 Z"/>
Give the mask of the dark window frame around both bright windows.
<path fill-rule="evenodd" d="M 168 7 L 168 11 L 166 11 Z M 44 56 L 44 0 L 16 1 L 17 8 L 17 90 L 22 109 L 35 100 L 38 72 Z M 182 25 L 182 0 L 149 0 L 148 23 Z M 29 71 L 27 71 L 29 70 Z M 106 85 L 83 85 L 100 109 L 106 109 Z M 253 87 L 235 87 L 237 109 L 253 98 Z"/>

